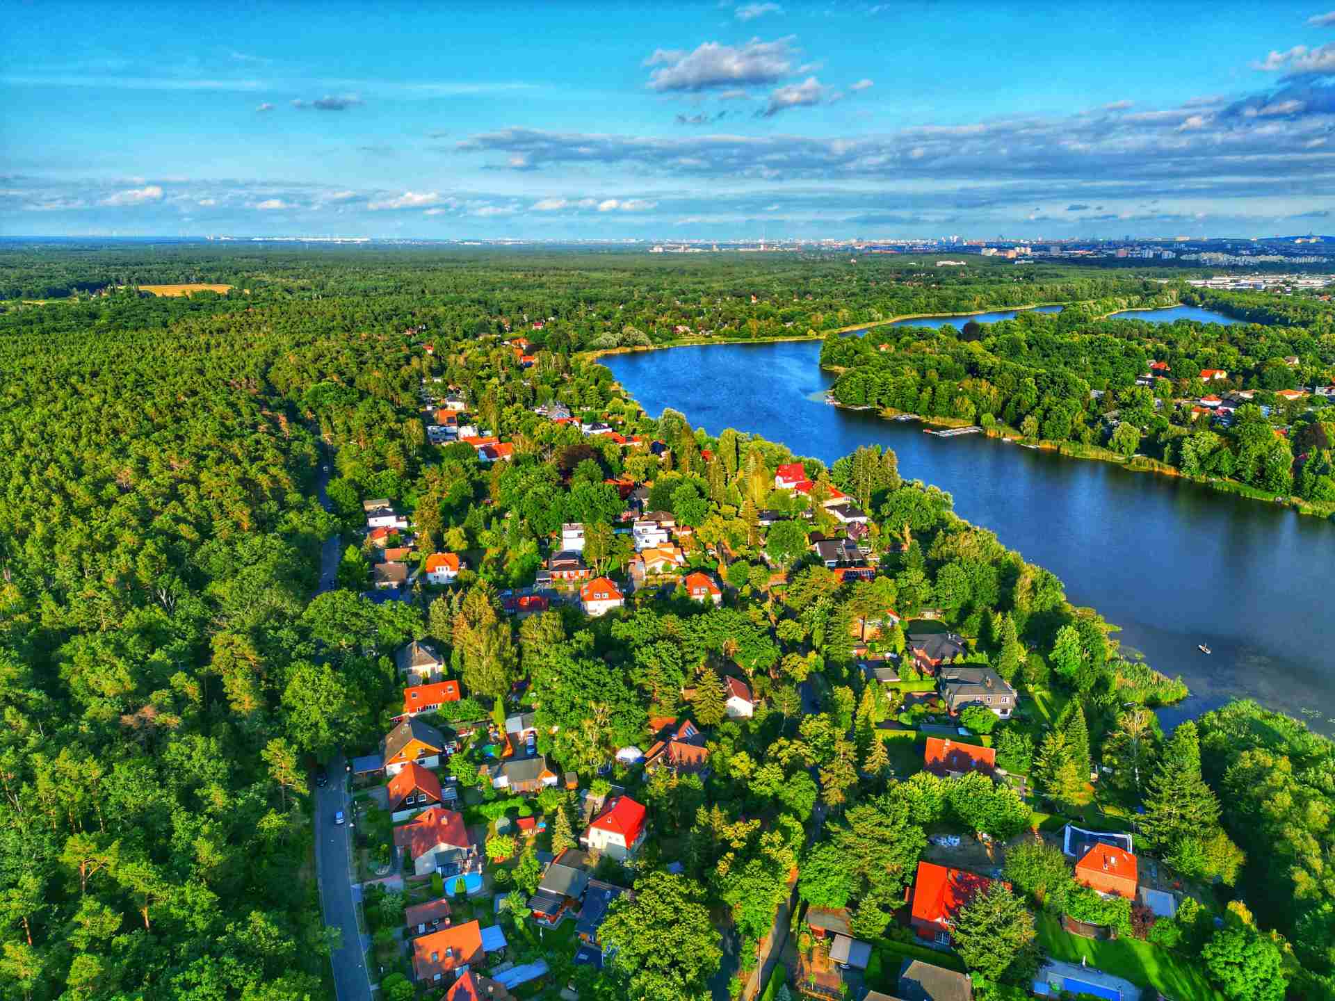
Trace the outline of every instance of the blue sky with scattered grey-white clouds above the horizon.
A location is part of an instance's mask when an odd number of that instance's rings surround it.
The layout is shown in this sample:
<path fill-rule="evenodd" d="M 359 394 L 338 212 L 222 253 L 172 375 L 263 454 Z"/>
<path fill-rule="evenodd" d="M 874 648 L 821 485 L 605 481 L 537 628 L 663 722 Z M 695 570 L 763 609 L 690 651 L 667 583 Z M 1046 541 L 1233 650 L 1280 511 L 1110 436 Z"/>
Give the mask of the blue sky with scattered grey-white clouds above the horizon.
<path fill-rule="evenodd" d="M 1332 129 L 1284 0 L 0 12 L 5 235 L 1330 232 Z"/>

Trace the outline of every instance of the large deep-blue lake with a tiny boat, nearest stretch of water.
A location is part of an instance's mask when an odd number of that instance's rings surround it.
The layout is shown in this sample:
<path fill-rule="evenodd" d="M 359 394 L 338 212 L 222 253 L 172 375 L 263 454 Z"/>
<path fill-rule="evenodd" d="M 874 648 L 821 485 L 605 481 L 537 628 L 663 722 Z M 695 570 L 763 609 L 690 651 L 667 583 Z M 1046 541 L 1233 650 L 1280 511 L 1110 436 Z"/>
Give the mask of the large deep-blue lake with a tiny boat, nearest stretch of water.
<path fill-rule="evenodd" d="M 956 322 L 963 323 L 965 318 Z M 818 342 L 712 344 L 614 355 L 603 363 L 650 412 L 725 427 L 833 462 L 860 444 L 898 452 L 905 476 L 955 496 L 961 517 L 1048 567 L 1076 605 L 1192 698 L 1172 723 L 1250 697 L 1330 731 L 1335 718 L 1335 525 L 1196 483 L 1069 459 L 983 436 L 824 403 L 833 379 Z M 1208 643 L 1214 654 L 1196 650 Z"/>

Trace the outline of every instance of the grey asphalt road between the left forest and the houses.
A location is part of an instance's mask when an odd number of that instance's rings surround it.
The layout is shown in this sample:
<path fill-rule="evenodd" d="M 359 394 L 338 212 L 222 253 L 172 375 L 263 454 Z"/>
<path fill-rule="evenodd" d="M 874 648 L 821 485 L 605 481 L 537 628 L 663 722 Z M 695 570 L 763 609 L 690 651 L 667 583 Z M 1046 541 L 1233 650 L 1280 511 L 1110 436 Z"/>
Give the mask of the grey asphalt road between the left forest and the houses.
<path fill-rule="evenodd" d="M 332 463 L 332 456 L 330 456 Z M 330 474 L 322 472 L 319 498 L 324 510 L 330 507 Z M 339 537 L 324 541 L 320 553 L 319 591 L 327 591 L 338 577 Z M 338 928 L 343 933 L 343 944 L 330 956 L 334 968 L 334 993 L 336 1001 L 371 1001 L 371 977 L 366 969 L 366 949 L 370 938 L 362 936 L 356 924 L 356 900 L 352 893 L 352 829 L 350 823 L 334 823 L 339 810 L 347 821 L 352 818 L 352 801 L 347 793 L 347 771 L 342 754 L 328 763 L 330 782 L 315 790 L 315 874 L 320 882 L 320 905 L 324 909 L 324 925 Z"/>

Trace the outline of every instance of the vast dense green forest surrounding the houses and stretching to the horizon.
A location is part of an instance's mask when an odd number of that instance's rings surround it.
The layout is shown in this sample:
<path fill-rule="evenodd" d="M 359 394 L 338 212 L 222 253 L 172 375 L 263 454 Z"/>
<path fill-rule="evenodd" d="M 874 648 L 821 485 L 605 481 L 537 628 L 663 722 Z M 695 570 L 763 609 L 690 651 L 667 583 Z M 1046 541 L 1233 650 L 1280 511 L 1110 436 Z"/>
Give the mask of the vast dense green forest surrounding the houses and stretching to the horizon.
<path fill-rule="evenodd" d="M 545 996 L 577 980 L 581 997 L 609 1001 L 700 997 L 722 961 L 717 922 L 754 946 L 794 865 L 802 900 L 849 906 L 858 936 L 889 940 L 928 829 L 1005 840 L 1040 813 L 977 775 L 896 778 L 921 767 L 912 738 L 924 707 L 910 698 L 909 669 L 905 689 L 870 683 L 853 642 L 888 609 L 905 623 L 939 617 L 963 635 L 965 661 L 1044 707 L 975 723 L 1007 769 L 1029 777 L 1041 815 L 1093 809 L 1083 777 L 1096 759 L 1112 769 L 1101 819 L 1129 825 L 1145 810 L 1149 850 L 1202 898 L 1193 916 L 1155 924 L 1155 948 L 1192 957 L 1208 946 L 1220 957 L 1212 982 L 1227 985 L 1236 980 L 1228 949 L 1240 944 L 1260 957 L 1252 969 L 1283 966 L 1280 990 L 1292 982 L 1332 996 L 1330 741 L 1251 703 L 1163 734 L 1149 710 L 1180 699 L 1181 683 L 1124 655 L 1095 610 L 1073 607 L 1056 577 L 960 519 L 948 494 L 904 480 L 893 452 L 862 448 L 830 468 L 802 460 L 816 500 L 838 488 L 872 515 L 876 574 L 845 579 L 810 553 L 813 531 L 838 530 L 833 517 L 816 503 L 804 521 L 808 502 L 774 488 L 776 467 L 794 458 L 785 447 L 732 430 L 709 436 L 673 411 L 650 418 L 578 354 L 609 338 L 670 340 L 677 326 L 766 336 L 789 322 L 824 331 L 900 312 L 1125 304 L 1159 295 L 1157 283 L 1048 267 L 997 267 L 991 280 L 917 275 L 897 260 L 860 263 L 853 275 L 830 259 L 363 248 L 5 248 L 0 264 L 13 298 L 37 298 L 43 282 L 47 296 L 125 286 L 0 314 L 0 997 L 332 996 L 306 775 L 336 747 L 374 747 L 388 729 L 402 705 L 391 657 L 411 638 L 446 651 L 469 710 L 503 706 L 518 686 L 522 707 L 539 714 L 542 753 L 586 783 L 623 743 L 647 746 L 650 717 L 689 713 L 709 731 L 708 775 L 614 771 L 654 830 L 641 870 L 613 873 L 635 878 L 639 898 L 609 918 L 618 958 L 599 973 L 551 956 Z M 187 280 L 238 288 L 190 299 L 135 291 Z M 1027 316 L 983 342 L 880 331 L 829 342 L 854 352 L 830 363 L 881 378 L 870 367 L 890 352 L 874 344 L 893 336 L 886 343 L 906 358 L 913 344 L 924 354 L 940 344 L 943 370 L 956 351 L 987 355 L 1001 384 L 1019 375 L 1012 367 L 1057 368 L 1064 344 L 1088 336 L 1085 371 L 1113 391 L 1148 358 L 1252 375 L 1240 359 L 1258 356 L 1255 342 L 1242 327 L 1193 328 L 1200 343 L 1183 342 L 1175 356 L 1185 331 L 1095 322 L 1096 312 L 1072 310 L 1052 330 Z M 1330 364 L 1328 334 L 1264 330 L 1304 366 Z M 535 359 L 527 368 L 503 340 L 521 334 Z M 901 364 L 921 380 L 933 371 Z M 944 378 L 963 386 L 971 376 L 960 366 Z M 1093 426 L 1095 383 L 1076 367 L 1024 376 L 1035 398 L 1015 410 L 1021 423 L 1035 410 L 1047 420 L 1061 403 L 1053 387 L 1075 383 L 1084 395 L 1072 426 Z M 1264 360 L 1255 378 L 1262 370 Z M 429 442 L 421 394 L 434 379 L 514 444 L 511 462 L 487 467 L 469 444 Z M 1003 419 L 1028 391 L 1024 379 L 995 390 L 989 412 Z M 622 447 L 534 412 L 553 400 L 666 450 Z M 330 458 L 326 513 L 315 492 Z M 645 484 L 651 510 L 692 530 L 688 569 L 726 585 L 724 605 L 649 589 L 601 619 L 561 607 L 513 623 L 499 591 L 533 582 L 562 522 L 583 522 L 586 558 L 622 578 L 631 553 L 611 527 L 625 505 L 607 482 L 618 478 Z M 421 557 L 466 557 L 451 593 L 360 597 L 355 530 L 371 496 L 411 515 Z M 760 510 L 790 517 L 762 530 Z M 348 549 L 347 586 L 312 599 L 332 533 Z M 904 633 L 888 629 L 870 651 L 902 653 Z M 728 719 L 724 677 L 746 679 L 760 703 L 753 719 Z M 817 711 L 804 707 L 804 690 Z M 910 739 L 885 739 L 882 723 Z M 451 767 L 495 798 L 475 759 L 461 754 Z M 551 815 L 565 809 L 557 802 Z M 682 874 L 659 872 L 674 861 Z M 996 998 L 1016 997 L 1032 970 L 1027 908 L 1060 906 L 1033 893 L 1021 861 L 1008 872 L 1016 893 L 980 909 L 981 930 L 960 952 Z M 663 913 L 681 918 L 666 940 L 653 934 Z M 1068 913 L 1105 917 L 1079 896 Z M 547 956 L 530 924 L 510 920 L 517 956 Z M 1003 925 L 1015 934 L 996 934 Z M 1016 948 L 983 948 L 1003 937 Z M 741 957 L 746 974 L 754 950 Z M 1246 988 L 1227 996 L 1248 997 Z"/>

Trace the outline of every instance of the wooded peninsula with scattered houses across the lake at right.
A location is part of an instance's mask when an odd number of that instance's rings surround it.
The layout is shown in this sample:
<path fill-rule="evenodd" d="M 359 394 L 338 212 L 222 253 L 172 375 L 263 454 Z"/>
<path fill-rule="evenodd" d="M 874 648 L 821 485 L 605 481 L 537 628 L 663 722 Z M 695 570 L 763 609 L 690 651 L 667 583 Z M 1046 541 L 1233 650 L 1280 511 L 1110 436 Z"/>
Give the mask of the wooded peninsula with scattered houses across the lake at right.
<path fill-rule="evenodd" d="M 1335 308 L 1316 298 L 1183 294 L 1256 320 L 1234 326 L 1021 314 L 939 331 L 897 327 L 826 338 L 834 398 L 1017 430 L 1027 439 L 1148 455 L 1183 474 L 1335 505 Z M 1159 368 L 1151 368 L 1157 363 Z M 1203 380 L 1204 370 L 1223 379 Z M 1152 376 L 1152 378 L 1147 378 Z M 1280 391 L 1299 391 L 1280 396 Z M 1227 422 L 1199 404 L 1246 394 Z"/>

